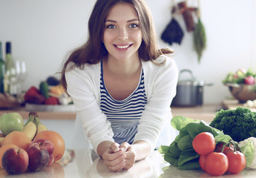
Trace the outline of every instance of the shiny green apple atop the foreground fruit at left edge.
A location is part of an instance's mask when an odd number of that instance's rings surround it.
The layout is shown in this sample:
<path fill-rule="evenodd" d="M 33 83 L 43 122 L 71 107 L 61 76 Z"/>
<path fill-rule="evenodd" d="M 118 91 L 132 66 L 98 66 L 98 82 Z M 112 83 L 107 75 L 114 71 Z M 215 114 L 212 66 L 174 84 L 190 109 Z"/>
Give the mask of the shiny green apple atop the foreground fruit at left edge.
<path fill-rule="evenodd" d="M 4 113 L 0 116 L 1 133 L 7 136 L 12 131 L 22 131 L 24 120 L 19 113 Z"/>

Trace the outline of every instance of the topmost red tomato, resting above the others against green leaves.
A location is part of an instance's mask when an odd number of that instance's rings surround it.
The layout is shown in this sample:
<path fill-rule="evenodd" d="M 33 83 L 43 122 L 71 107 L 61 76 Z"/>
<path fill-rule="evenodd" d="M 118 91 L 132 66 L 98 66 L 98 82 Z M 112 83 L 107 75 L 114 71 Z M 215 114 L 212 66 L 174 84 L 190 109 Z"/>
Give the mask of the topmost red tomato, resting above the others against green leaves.
<path fill-rule="evenodd" d="M 202 132 L 194 137 L 192 141 L 194 151 L 200 155 L 208 155 L 215 149 L 215 139 L 212 133 Z"/>

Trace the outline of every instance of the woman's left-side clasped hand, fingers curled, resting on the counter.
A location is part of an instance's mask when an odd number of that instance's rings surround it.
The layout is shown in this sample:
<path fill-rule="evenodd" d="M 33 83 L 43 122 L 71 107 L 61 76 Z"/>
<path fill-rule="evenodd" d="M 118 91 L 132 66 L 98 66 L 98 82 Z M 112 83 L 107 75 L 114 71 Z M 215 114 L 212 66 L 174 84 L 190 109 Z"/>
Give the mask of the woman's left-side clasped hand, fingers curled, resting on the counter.
<path fill-rule="evenodd" d="M 109 148 L 102 154 L 104 164 L 108 166 L 111 171 L 120 171 L 125 168 L 124 148 L 119 148 L 119 144 L 113 142 Z"/>

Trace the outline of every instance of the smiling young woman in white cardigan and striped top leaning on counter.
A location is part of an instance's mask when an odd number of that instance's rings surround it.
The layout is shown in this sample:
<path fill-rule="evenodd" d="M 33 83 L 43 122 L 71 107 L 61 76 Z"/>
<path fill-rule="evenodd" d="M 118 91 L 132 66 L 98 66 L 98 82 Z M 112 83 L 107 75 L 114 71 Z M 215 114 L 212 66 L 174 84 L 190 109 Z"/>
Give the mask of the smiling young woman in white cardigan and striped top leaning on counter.
<path fill-rule="evenodd" d="M 65 61 L 62 85 L 93 150 L 112 171 L 129 169 L 175 137 L 177 65 L 158 47 L 143 0 L 97 0 L 88 33 Z"/>

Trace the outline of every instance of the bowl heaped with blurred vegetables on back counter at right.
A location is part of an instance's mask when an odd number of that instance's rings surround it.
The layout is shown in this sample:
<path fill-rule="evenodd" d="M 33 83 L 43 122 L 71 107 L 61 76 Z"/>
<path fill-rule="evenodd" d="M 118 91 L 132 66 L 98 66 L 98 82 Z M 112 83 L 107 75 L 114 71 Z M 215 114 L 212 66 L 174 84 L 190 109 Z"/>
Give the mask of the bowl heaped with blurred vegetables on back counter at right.
<path fill-rule="evenodd" d="M 239 102 L 247 102 L 256 99 L 256 70 L 239 69 L 230 72 L 223 80 L 223 84 L 229 88 L 230 93 Z"/>

